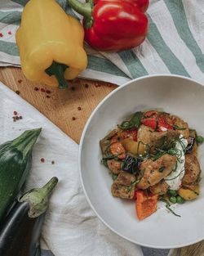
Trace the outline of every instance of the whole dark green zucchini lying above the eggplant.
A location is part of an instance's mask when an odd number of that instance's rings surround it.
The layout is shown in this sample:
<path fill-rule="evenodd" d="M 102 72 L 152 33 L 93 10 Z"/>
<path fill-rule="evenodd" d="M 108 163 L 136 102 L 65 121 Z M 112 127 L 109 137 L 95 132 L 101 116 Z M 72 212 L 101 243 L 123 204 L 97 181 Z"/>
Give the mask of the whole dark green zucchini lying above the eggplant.
<path fill-rule="evenodd" d="M 29 174 L 32 150 L 42 128 L 25 131 L 0 145 L 0 222 L 20 193 Z"/>

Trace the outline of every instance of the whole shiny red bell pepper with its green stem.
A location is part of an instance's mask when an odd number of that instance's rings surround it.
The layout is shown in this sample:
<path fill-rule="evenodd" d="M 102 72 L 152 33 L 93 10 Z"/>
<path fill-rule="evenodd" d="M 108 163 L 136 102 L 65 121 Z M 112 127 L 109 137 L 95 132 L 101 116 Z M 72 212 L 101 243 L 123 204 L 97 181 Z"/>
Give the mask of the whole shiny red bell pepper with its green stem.
<path fill-rule="evenodd" d="M 84 16 L 85 41 L 105 52 L 119 52 L 142 43 L 148 32 L 144 11 L 149 0 L 68 0 Z"/>

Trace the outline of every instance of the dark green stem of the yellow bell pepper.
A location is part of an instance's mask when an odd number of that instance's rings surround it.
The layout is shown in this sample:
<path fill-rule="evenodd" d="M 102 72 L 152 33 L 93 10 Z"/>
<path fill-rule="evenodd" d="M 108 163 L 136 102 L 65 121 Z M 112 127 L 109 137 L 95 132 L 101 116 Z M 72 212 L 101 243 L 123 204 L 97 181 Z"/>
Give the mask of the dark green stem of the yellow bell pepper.
<path fill-rule="evenodd" d="M 46 73 L 48 75 L 55 75 L 55 78 L 57 79 L 59 83 L 60 89 L 65 89 L 68 87 L 68 83 L 66 79 L 64 79 L 64 71 L 68 68 L 68 65 L 64 65 L 61 63 L 57 63 L 55 61 L 52 62 L 51 66 L 47 68 Z"/>

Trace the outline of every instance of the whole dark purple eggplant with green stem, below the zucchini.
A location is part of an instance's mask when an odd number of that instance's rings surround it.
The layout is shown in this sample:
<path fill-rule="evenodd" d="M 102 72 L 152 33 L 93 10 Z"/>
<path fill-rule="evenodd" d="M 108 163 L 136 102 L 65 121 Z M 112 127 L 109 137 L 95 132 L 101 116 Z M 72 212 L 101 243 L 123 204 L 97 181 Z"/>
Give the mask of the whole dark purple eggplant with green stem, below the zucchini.
<path fill-rule="evenodd" d="M 1 256 L 36 254 L 49 198 L 57 182 L 57 177 L 52 177 L 42 188 L 20 197 L 0 227 Z"/>

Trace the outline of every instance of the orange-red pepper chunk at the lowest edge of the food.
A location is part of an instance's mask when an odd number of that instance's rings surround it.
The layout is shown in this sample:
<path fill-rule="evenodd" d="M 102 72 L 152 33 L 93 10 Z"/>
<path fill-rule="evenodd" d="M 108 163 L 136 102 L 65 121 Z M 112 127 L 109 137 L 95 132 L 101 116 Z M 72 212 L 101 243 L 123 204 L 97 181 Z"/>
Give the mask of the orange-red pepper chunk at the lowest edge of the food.
<path fill-rule="evenodd" d="M 143 220 L 157 211 L 158 195 L 146 194 L 144 191 L 135 191 L 135 209 L 137 218 Z"/>

